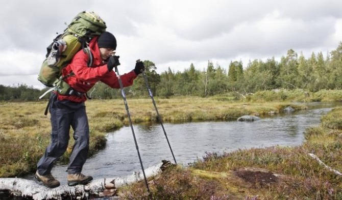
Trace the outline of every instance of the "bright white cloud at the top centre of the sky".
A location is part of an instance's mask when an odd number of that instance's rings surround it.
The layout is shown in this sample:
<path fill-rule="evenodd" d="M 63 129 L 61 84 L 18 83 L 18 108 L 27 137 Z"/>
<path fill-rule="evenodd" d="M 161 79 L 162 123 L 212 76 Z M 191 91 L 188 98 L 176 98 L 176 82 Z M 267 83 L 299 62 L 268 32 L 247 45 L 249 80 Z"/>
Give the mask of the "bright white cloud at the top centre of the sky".
<path fill-rule="evenodd" d="M 219 37 L 230 32 L 234 26 L 243 22 L 252 22 L 265 15 L 270 4 L 261 4 L 261 10 L 247 7 L 248 1 L 206 2 L 192 7 L 181 8 L 165 18 L 166 24 L 173 27 L 175 33 L 187 40 L 199 41 Z M 189 14 L 190 13 L 190 14 Z"/>

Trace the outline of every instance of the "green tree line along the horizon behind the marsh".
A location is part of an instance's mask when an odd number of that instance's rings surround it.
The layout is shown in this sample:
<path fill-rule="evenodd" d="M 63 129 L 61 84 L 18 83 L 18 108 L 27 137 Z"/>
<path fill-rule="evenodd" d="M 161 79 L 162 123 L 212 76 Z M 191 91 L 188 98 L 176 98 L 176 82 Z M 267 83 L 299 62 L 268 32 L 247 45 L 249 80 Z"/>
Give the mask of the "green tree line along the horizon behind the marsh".
<path fill-rule="evenodd" d="M 182 72 L 175 72 L 170 67 L 158 74 L 151 61 L 144 61 L 145 74 L 154 96 L 201 96 L 237 92 L 240 94 L 255 93 L 273 89 L 303 89 L 316 92 L 322 89 L 342 88 L 342 43 L 327 54 L 312 53 L 305 58 L 292 49 L 282 56 L 266 61 L 250 61 L 245 69 L 241 61 L 231 61 L 228 71 L 218 64 L 214 66 L 208 61 L 203 70 L 197 70 L 191 63 Z M 46 91 L 40 91 L 25 84 L 16 87 L 0 85 L 0 100 L 37 100 Z M 143 77 L 140 75 L 131 87 L 125 88 L 129 97 L 147 97 L 148 92 Z M 88 92 L 94 99 L 120 98 L 119 90 L 112 90 L 104 83 L 96 83 Z"/>

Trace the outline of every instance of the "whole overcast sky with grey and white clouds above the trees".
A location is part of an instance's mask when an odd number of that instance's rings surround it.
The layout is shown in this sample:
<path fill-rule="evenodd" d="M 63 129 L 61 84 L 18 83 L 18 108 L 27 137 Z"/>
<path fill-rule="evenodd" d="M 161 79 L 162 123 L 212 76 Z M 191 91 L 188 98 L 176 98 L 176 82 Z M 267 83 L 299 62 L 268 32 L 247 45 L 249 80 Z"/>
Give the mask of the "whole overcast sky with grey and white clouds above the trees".
<path fill-rule="evenodd" d="M 208 60 L 279 59 L 290 48 L 308 57 L 342 41 L 342 1 L 4 1 L 0 13 L 0 84 L 36 88 L 46 46 L 81 11 L 94 11 L 117 40 L 119 72 L 150 60 L 161 73 Z"/>

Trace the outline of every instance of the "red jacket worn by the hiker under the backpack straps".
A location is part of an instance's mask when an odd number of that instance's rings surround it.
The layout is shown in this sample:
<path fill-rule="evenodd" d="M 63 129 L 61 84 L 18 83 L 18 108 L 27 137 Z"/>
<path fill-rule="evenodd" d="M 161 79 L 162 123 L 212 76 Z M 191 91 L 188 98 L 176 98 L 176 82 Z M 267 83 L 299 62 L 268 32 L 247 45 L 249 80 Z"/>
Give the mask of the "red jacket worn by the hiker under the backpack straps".
<path fill-rule="evenodd" d="M 120 88 L 118 78 L 114 71 L 108 71 L 107 63 L 102 60 L 100 49 L 97 46 L 97 37 L 93 38 L 89 43 L 89 48 L 93 55 L 93 63 L 88 67 L 88 55 L 83 50 L 77 52 L 72 58 L 71 63 L 62 69 L 62 75 L 67 76 L 74 72 L 74 76 L 69 76 L 64 80 L 76 91 L 86 93 L 88 92 L 97 81 L 102 81 L 109 85 L 111 88 Z M 121 75 L 121 81 L 124 87 L 133 84 L 133 80 L 137 77 L 132 70 L 129 73 Z M 58 94 L 58 100 L 70 100 L 74 102 L 86 101 L 85 95 L 78 97 L 75 95 L 66 96 Z"/>

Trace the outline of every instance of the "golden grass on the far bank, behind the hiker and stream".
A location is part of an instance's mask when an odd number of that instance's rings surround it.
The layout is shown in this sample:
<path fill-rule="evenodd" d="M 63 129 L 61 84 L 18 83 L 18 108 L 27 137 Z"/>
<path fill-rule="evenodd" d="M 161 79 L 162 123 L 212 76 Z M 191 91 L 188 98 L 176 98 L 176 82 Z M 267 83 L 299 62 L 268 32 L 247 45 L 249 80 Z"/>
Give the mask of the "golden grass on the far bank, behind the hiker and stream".
<path fill-rule="evenodd" d="M 288 102 L 226 102 L 213 98 L 181 97 L 156 99 L 164 122 L 236 120 L 242 115 L 267 115 L 281 112 Z M 156 122 L 151 99 L 129 99 L 133 123 Z M 50 142 L 50 114 L 43 115 L 46 102 L 0 103 L 0 177 L 22 176 L 34 172 L 36 163 Z M 305 109 L 291 105 L 296 109 Z M 86 102 L 90 127 L 89 156 L 103 148 L 105 134 L 128 125 L 122 99 Z M 72 134 L 72 129 L 70 131 Z M 70 136 L 61 161 L 67 163 L 74 140 Z"/>

